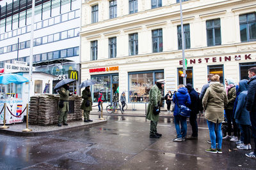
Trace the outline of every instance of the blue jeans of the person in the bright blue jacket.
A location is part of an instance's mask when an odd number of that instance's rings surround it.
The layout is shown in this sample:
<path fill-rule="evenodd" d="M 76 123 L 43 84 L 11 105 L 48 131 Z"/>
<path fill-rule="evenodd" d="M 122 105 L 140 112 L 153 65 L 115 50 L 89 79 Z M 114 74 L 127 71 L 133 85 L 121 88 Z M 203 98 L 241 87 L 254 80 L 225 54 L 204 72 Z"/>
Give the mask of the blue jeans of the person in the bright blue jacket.
<path fill-rule="evenodd" d="M 185 138 L 187 135 L 187 118 L 180 115 L 174 116 L 174 124 L 177 132 L 177 138 Z M 180 132 L 181 125 L 181 132 Z"/>

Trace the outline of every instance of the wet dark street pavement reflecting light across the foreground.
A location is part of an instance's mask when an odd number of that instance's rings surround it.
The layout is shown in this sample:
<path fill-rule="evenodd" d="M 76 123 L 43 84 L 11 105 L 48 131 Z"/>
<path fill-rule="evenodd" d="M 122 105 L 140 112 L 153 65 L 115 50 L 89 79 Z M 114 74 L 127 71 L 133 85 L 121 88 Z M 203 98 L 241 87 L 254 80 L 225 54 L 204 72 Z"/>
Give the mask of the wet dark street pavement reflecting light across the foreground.
<path fill-rule="evenodd" d="M 98 118 L 97 115 L 92 118 Z M 251 151 L 223 141 L 223 154 L 206 153 L 210 145 L 204 118 L 198 140 L 173 142 L 173 118 L 160 118 L 160 139 L 148 138 L 143 117 L 108 116 L 107 124 L 47 136 L 0 135 L 1 169 L 255 169 Z M 188 136 L 191 127 L 188 124 Z"/>

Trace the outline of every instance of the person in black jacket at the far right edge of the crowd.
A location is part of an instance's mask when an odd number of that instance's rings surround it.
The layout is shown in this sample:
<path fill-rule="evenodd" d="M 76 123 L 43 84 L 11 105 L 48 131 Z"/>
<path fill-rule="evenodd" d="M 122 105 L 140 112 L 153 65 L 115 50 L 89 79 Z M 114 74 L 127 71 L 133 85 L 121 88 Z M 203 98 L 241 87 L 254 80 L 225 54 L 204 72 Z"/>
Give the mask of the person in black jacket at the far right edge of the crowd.
<path fill-rule="evenodd" d="M 254 138 L 254 152 L 246 153 L 246 157 L 256 159 L 256 67 L 248 69 L 248 94 L 246 97 L 246 110 L 250 111 L 252 135 Z"/>

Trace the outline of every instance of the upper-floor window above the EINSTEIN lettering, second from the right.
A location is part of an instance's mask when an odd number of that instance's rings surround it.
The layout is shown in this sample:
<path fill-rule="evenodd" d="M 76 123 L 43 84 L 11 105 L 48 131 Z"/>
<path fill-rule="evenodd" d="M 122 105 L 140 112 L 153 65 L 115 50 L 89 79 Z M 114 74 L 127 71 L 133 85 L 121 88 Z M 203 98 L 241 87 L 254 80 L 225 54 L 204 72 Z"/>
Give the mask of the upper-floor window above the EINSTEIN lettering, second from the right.
<path fill-rule="evenodd" d="M 206 21 L 207 46 L 221 45 L 220 18 Z"/>

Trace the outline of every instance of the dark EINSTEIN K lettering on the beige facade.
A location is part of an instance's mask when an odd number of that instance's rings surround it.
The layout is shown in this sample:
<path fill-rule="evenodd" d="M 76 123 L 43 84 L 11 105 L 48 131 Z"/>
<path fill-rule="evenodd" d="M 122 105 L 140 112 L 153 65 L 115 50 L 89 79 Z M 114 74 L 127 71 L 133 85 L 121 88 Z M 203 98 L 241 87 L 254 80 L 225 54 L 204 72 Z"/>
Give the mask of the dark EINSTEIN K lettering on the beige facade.
<path fill-rule="evenodd" d="M 232 60 L 232 56 L 223 56 L 223 57 L 212 57 L 212 58 L 203 58 L 203 59 L 189 59 L 188 63 L 189 64 L 200 64 L 203 62 L 203 60 L 205 60 L 206 63 L 212 61 L 212 62 L 222 62 L 223 61 L 231 61 Z M 234 59 L 235 60 L 241 60 L 241 55 L 234 55 Z M 252 60 L 252 56 L 251 54 L 245 54 L 244 55 L 244 60 Z M 182 65 L 182 60 L 179 61 L 179 64 Z"/>

